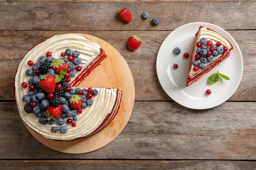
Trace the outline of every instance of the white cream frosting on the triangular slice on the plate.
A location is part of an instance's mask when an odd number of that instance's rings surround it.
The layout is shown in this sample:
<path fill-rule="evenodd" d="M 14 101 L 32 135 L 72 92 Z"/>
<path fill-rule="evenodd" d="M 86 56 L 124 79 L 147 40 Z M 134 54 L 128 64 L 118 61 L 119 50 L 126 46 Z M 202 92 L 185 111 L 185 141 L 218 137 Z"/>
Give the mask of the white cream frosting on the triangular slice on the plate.
<path fill-rule="evenodd" d="M 222 37 L 220 34 L 218 34 L 217 32 L 215 31 L 211 31 L 211 30 L 208 30 L 206 27 L 202 27 L 201 30 L 198 32 L 199 36 L 198 36 L 198 39 L 196 42 L 200 42 L 200 39 L 201 38 L 206 38 L 207 41 L 208 40 L 211 40 L 212 41 L 212 44 L 216 44 L 216 42 L 221 42 L 221 47 L 224 47 L 226 46 L 227 49 L 229 50 L 231 48 L 231 45 L 230 43 L 224 38 Z M 195 46 L 195 48 L 197 49 L 197 47 Z M 195 60 L 195 54 L 196 53 L 196 49 L 195 49 L 195 52 L 193 54 L 193 58 Z M 218 59 L 219 57 L 221 56 L 221 54 L 219 54 L 217 57 L 214 57 L 213 61 L 215 59 Z M 200 60 L 198 60 L 198 62 L 200 62 Z M 207 62 L 205 64 L 205 66 L 209 65 L 211 62 Z M 199 69 L 199 71 L 193 71 L 193 66 L 191 67 L 190 71 L 189 71 L 189 76 L 192 77 L 194 74 L 198 73 L 198 72 L 201 72 L 202 69 Z"/>

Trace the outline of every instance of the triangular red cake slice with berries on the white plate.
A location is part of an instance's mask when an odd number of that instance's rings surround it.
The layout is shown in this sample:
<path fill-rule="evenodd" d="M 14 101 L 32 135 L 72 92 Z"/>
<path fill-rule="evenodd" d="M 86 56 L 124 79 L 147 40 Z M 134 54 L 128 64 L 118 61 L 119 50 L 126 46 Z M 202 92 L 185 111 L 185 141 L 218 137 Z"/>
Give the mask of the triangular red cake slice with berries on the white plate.
<path fill-rule="evenodd" d="M 195 34 L 186 86 L 200 79 L 229 57 L 232 49 L 233 45 L 221 34 L 210 28 L 200 26 Z"/>

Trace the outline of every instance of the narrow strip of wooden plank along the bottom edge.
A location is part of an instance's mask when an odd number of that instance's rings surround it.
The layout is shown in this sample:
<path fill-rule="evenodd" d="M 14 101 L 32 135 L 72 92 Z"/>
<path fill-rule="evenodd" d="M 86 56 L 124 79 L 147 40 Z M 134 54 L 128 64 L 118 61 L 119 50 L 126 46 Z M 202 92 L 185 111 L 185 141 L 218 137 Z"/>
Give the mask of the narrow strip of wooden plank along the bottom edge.
<path fill-rule="evenodd" d="M 252 170 L 256 169 L 254 161 L 8 161 L 2 160 L 2 170 L 42 170 L 42 169 L 76 169 L 76 170 Z"/>

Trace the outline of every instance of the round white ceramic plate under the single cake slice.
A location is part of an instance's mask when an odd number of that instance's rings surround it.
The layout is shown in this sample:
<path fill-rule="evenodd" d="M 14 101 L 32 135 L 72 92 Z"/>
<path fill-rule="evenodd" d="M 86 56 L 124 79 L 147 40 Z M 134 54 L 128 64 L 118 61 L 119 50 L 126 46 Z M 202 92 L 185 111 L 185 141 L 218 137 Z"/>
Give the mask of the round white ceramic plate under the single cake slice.
<path fill-rule="evenodd" d="M 195 33 L 199 26 L 217 31 L 231 42 L 234 49 L 231 51 L 230 57 L 222 61 L 197 82 L 193 82 L 189 87 L 186 87 Z M 179 55 L 173 53 L 175 47 L 181 49 Z M 186 52 L 189 53 L 188 59 L 183 57 Z M 179 66 L 177 69 L 173 68 L 175 63 Z M 217 71 L 225 74 L 230 80 L 219 79 L 214 85 L 207 85 L 207 78 Z M 210 23 L 189 23 L 175 29 L 163 41 L 157 55 L 157 76 L 163 89 L 173 100 L 187 108 L 208 109 L 222 104 L 235 93 L 242 74 L 243 58 L 236 41 L 227 31 Z M 212 94 L 206 95 L 207 89 L 210 89 Z"/>

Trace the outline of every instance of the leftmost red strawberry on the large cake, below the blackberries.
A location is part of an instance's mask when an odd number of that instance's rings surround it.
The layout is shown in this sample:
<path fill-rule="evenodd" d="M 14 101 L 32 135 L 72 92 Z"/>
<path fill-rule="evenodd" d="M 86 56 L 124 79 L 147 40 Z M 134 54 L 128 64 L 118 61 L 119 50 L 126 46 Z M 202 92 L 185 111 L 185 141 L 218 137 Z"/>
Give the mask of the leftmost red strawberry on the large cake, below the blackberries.
<path fill-rule="evenodd" d="M 47 93 L 53 93 L 55 90 L 55 78 L 52 75 L 45 75 L 41 77 L 39 80 L 39 86 L 41 89 L 46 91 Z"/>

